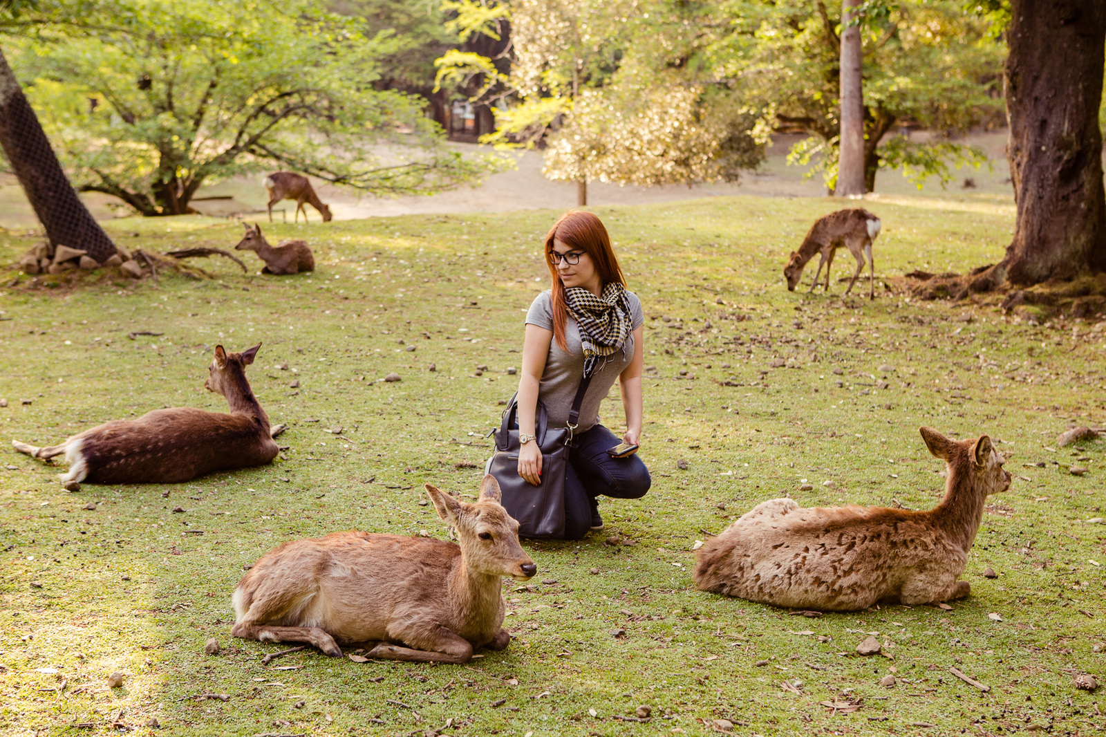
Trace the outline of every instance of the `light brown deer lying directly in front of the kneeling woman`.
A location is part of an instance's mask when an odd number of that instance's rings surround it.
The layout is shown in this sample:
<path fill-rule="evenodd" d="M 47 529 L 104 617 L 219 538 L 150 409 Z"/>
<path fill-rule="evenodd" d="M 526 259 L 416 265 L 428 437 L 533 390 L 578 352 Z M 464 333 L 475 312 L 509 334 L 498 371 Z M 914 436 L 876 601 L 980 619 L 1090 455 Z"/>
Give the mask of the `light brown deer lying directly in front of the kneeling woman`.
<path fill-rule="evenodd" d="M 473 504 L 426 490 L 460 544 L 356 531 L 286 542 L 234 589 L 231 634 L 310 643 L 333 657 L 338 642 L 356 644 L 372 648 L 366 657 L 418 663 L 467 663 L 477 647 L 507 647 L 502 579 L 526 581 L 538 567 L 499 504 L 499 484 L 484 476 Z"/>

